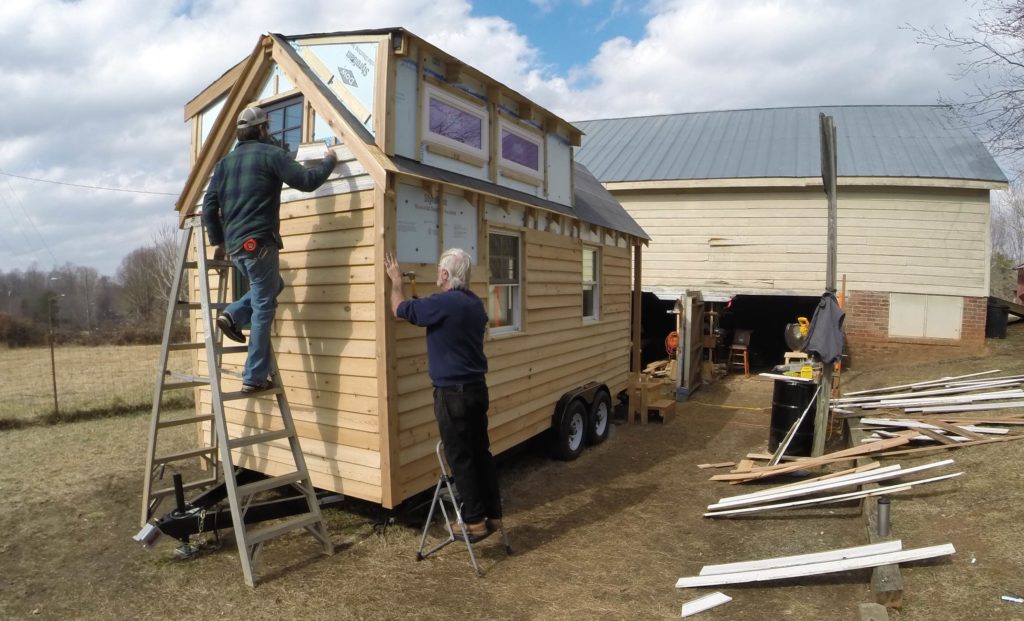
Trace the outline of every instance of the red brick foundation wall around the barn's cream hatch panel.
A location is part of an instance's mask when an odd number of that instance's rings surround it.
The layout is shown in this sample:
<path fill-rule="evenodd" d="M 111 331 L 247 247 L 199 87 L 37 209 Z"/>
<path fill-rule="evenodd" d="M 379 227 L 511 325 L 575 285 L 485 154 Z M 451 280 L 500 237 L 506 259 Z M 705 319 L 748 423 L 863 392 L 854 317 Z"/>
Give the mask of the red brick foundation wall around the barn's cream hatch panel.
<path fill-rule="evenodd" d="M 934 360 L 980 354 L 985 349 L 985 313 L 988 299 L 965 297 L 958 340 L 889 336 L 889 293 L 847 292 L 845 310 L 847 349 L 856 365 L 859 357 L 899 356 L 903 360 Z"/>

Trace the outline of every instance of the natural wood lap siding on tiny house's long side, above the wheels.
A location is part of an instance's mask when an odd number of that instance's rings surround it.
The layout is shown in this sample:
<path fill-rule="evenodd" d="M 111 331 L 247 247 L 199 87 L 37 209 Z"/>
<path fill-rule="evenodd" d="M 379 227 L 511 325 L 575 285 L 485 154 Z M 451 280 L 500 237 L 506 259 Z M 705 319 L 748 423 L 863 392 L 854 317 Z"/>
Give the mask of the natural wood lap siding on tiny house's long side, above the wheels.
<path fill-rule="evenodd" d="M 561 235 L 522 231 L 526 330 L 488 337 L 492 450 L 505 451 L 551 425 L 558 399 L 588 381 L 626 385 L 630 356 L 630 249 L 601 247 L 601 316 L 582 319 L 582 243 Z M 486 289 L 477 265 L 473 290 Z M 418 283 L 418 293 L 435 289 Z M 400 483 L 396 500 L 427 489 L 437 478 L 437 424 L 427 375 L 426 335 L 398 322 L 396 386 Z"/>

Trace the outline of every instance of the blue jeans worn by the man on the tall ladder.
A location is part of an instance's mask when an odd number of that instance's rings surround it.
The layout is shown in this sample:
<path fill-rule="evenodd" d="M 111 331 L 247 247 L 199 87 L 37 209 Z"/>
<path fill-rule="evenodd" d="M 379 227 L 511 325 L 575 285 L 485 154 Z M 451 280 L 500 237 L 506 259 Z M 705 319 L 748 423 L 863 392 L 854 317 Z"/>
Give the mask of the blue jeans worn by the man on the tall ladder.
<path fill-rule="evenodd" d="M 257 385 L 270 375 L 270 326 L 285 281 L 281 278 L 276 246 L 261 244 L 254 252 L 240 252 L 231 260 L 239 274 L 249 280 L 249 291 L 231 302 L 225 313 L 240 328 L 251 324 L 242 381 Z"/>

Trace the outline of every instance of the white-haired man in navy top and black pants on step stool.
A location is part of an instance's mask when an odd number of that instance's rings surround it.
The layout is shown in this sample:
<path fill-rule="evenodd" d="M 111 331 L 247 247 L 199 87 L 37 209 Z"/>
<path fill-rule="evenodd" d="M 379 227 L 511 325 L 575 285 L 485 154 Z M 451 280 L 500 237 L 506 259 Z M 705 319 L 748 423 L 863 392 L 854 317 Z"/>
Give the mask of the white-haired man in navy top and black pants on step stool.
<path fill-rule="evenodd" d="M 462 496 L 466 532 L 470 537 L 481 537 L 502 527 L 502 503 L 487 438 L 490 401 L 483 355 L 487 313 L 469 289 L 472 262 L 464 250 L 446 250 L 437 262 L 440 292 L 413 299 L 406 299 L 401 268 L 390 253 L 384 257 L 384 268 L 391 279 L 391 312 L 427 329 L 434 417 Z"/>

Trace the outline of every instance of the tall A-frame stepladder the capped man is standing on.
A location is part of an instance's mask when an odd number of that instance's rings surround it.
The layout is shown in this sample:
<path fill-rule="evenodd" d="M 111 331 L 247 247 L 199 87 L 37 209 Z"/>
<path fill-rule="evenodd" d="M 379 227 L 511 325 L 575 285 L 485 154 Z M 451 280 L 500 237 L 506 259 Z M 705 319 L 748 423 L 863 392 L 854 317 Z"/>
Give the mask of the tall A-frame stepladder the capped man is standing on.
<path fill-rule="evenodd" d="M 196 238 L 197 260 L 189 261 L 188 252 L 194 235 Z M 321 514 L 315 490 L 309 479 L 309 471 L 306 469 L 305 459 L 302 455 L 302 449 L 299 446 L 299 438 L 292 421 L 291 409 L 288 405 L 288 398 L 285 395 L 284 386 L 281 383 L 281 374 L 278 370 L 276 359 L 272 349 L 270 353 L 270 380 L 273 384 L 272 388 L 256 395 L 246 395 L 241 391 L 223 392 L 221 390 L 221 375 L 222 373 L 228 373 L 221 370 L 222 356 L 224 354 L 248 351 L 248 347 L 244 344 L 225 346 L 223 344 L 223 336 L 220 335 L 215 326 L 217 314 L 227 307 L 225 298 L 228 275 L 231 274 L 233 266 L 233 263 L 229 260 L 212 260 L 206 257 L 206 235 L 202 218 L 200 216 L 189 218 L 182 231 L 177 248 L 173 284 L 171 285 L 168 297 L 167 319 L 164 324 L 164 335 L 160 348 L 160 363 L 157 370 L 156 388 L 153 397 L 153 417 L 150 424 L 150 447 L 146 453 L 145 480 L 142 489 L 141 522 L 143 527 L 150 523 L 157 506 L 164 498 L 176 495 L 180 504 L 182 491 L 211 488 L 220 485 L 220 479 L 222 478 L 222 484 L 226 488 L 226 496 L 230 506 L 231 526 L 234 530 L 239 557 L 242 562 L 242 573 L 246 584 L 254 586 L 254 566 L 264 542 L 269 539 L 294 530 L 305 529 L 323 545 L 325 554 L 330 555 L 334 553 L 334 545 L 328 535 L 327 525 Z M 182 284 L 188 282 L 185 279 L 189 271 L 196 272 L 196 280 L 198 281 L 200 291 L 200 301 L 198 303 L 178 299 Z M 211 301 L 211 271 L 216 273 L 217 301 Z M 200 312 L 203 322 L 203 342 L 171 343 L 174 315 L 176 310 L 182 308 Z M 170 371 L 168 369 L 169 355 L 172 350 L 180 349 L 205 349 L 208 364 L 207 375 L 187 375 Z M 195 388 L 197 386 L 209 387 L 212 404 L 211 412 L 175 418 L 162 417 L 161 403 L 164 392 L 182 388 Z M 232 438 L 227 428 L 224 403 L 261 399 L 270 396 L 276 399 L 278 411 L 281 413 L 281 421 L 284 423 L 283 428 Z M 157 454 L 157 440 L 160 430 L 179 425 L 204 423 L 210 423 L 212 427 L 210 437 L 208 438 L 210 446 L 163 455 Z M 197 431 L 198 436 L 199 431 Z M 291 448 L 294 470 L 253 483 L 240 484 L 238 480 L 239 472 L 236 472 L 231 452 L 244 447 L 265 445 L 281 440 L 288 441 Z M 157 482 L 163 479 L 164 470 L 168 464 L 197 457 L 204 461 L 212 473 L 211 477 L 183 486 L 178 485 L 177 487 L 157 489 Z M 246 512 L 250 507 L 254 506 L 253 501 L 258 494 L 286 486 L 291 486 L 298 490 L 305 499 L 305 506 L 302 507 L 304 509 L 302 512 L 293 514 L 270 526 L 255 527 L 246 524 Z"/>

